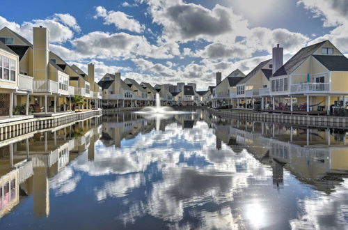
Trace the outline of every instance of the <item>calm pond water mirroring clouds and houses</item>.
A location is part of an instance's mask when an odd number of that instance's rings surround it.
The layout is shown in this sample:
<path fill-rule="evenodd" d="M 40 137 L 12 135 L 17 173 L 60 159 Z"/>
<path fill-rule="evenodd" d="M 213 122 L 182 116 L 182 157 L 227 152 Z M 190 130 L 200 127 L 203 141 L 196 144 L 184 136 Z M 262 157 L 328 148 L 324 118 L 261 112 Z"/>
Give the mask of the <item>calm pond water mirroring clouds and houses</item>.
<path fill-rule="evenodd" d="M 0 229 L 347 229 L 346 139 L 203 110 L 33 133 L 0 142 Z"/>

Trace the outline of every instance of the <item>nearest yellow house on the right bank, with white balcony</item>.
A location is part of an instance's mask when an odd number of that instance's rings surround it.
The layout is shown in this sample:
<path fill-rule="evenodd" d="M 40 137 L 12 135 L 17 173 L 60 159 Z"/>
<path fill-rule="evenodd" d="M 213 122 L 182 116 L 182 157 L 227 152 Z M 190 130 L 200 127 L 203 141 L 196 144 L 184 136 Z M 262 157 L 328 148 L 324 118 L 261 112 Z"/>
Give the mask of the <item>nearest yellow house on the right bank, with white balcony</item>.
<path fill-rule="evenodd" d="M 270 78 L 273 110 L 326 114 L 345 107 L 348 59 L 329 40 L 304 47 Z"/>

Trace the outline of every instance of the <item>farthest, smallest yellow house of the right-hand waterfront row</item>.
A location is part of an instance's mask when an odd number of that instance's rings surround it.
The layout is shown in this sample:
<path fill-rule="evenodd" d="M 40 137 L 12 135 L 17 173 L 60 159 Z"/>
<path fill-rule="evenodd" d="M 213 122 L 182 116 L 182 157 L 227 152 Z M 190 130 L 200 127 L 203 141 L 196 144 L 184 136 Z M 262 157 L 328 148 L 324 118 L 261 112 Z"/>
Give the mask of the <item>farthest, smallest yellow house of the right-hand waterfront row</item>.
<path fill-rule="evenodd" d="M 216 86 L 212 89 L 212 107 L 230 106 L 237 96 L 237 83 L 245 77 L 239 69 L 221 81 L 221 72 L 216 72 Z"/>

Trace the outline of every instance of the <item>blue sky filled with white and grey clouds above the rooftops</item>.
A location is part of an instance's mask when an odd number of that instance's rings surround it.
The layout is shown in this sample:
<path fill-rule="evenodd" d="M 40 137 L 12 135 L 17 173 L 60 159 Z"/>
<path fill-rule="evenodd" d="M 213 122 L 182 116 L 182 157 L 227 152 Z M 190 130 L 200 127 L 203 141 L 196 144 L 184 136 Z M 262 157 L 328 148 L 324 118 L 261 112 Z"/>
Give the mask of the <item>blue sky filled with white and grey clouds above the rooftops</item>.
<path fill-rule="evenodd" d="M 98 81 L 121 72 L 151 84 L 214 85 L 214 72 L 245 74 L 284 47 L 284 61 L 299 49 L 329 39 L 348 54 L 346 0 L 61 0 L 4 1 L 0 28 L 29 41 L 46 26 L 49 49 Z"/>

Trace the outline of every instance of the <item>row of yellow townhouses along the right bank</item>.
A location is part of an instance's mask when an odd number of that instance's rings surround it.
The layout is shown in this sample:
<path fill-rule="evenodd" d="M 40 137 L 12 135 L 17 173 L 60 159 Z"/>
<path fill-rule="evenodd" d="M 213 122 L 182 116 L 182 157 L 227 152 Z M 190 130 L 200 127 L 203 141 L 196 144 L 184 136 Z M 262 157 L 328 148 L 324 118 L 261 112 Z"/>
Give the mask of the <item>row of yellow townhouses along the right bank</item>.
<path fill-rule="evenodd" d="M 216 73 L 212 107 L 262 111 L 329 114 L 345 108 L 348 59 L 329 40 L 304 47 L 283 64 L 283 48 L 273 48 L 247 75 L 233 71 L 221 81 Z"/>

